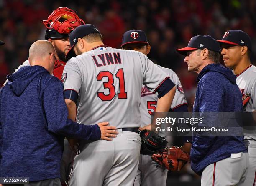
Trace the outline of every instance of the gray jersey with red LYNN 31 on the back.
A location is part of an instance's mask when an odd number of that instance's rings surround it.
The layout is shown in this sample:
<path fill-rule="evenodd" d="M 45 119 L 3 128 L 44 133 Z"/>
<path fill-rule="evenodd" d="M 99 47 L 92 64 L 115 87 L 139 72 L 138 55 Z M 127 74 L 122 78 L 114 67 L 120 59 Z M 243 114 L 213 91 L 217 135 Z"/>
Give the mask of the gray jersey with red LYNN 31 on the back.
<path fill-rule="evenodd" d="M 141 52 L 100 46 L 70 59 L 62 82 L 79 95 L 78 123 L 126 128 L 141 126 L 142 84 L 154 92 L 166 78 Z"/>

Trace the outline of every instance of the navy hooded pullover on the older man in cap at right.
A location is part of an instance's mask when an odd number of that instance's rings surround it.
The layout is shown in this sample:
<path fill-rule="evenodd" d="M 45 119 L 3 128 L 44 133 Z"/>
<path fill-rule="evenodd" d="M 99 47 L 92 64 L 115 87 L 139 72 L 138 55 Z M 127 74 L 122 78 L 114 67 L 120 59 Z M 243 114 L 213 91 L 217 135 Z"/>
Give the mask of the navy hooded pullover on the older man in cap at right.
<path fill-rule="evenodd" d="M 236 85 L 236 76 L 221 64 L 209 64 L 197 77 L 198 85 L 193 112 L 242 112 L 242 95 Z M 209 114 L 208 114 L 209 115 Z M 214 114 L 213 114 L 214 115 Z M 207 126 L 220 124 L 216 118 Z M 237 130 L 242 127 L 237 126 Z M 194 135 L 194 134 L 193 134 Z M 209 136 L 198 134 L 192 139 L 191 168 L 201 175 L 206 166 L 231 156 L 231 153 L 247 152 L 243 137 Z"/>

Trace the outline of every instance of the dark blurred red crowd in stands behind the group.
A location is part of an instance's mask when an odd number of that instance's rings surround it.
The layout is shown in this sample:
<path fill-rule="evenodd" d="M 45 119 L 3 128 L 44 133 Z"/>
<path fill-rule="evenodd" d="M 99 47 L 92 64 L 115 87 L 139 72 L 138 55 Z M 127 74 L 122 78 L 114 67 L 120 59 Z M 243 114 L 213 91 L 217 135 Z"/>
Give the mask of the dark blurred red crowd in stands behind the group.
<path fill-rule="evenodd" d="M 148 57 L 178 74 L 189 110 L 197 74 L 187 71 L 184 56 L 176 49 L 186 47 L 191 37 L 207 34 L 219 40 L 227 30 L 243 30 L 252 39 L 251 60 L 256 64 L 254 0 L 0 0 L 0 40 L 6 43 L 0 48 L 0 84 L 28 58 L 30 45 L 44 39 L 42 20 L 57 7 L 69 7 L 86 23 L 98 27 L 110 47 L 120 48 L 127 30 L 145 31 L 151 45 Z M 195 179 L 189 170 L 170 176 Z"/>

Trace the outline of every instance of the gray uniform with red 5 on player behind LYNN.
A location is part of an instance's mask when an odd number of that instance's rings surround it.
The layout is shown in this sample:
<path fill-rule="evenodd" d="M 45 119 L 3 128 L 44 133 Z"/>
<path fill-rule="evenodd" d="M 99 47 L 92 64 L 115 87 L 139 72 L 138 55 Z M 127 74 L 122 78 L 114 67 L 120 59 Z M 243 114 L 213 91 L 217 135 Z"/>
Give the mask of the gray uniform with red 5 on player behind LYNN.
<path fill-rule="evenodd" d="M 183 104 L 187 104 L 187 100 L 184 97 L 182 85 L 177 74 L 171 69 L 167 69 L 159 65 L 157 66 L 170 77 L 174 84 L 176 84 L 176 92 L 171 104 L 171 109 L 175 109 Z M 150 92 L 146 86 L 142 86 L 140 106 L 142 120 L 141 127 L 151 123 L 151 115 L 156 110 L 158 100 L 157 95 L 157 93 L 152 94 L 152 92 Z M 161 134 L 159 133 L 159 135 Z M 162 134 L 161 136 L 166 136 L 166 134 Z M 134 186 L 165 186 L 167 180 L 167 169 L 163 170 L 157 165 L 158 164 L 155 161 L 152 161 L 151 156 L 141 154 Z"/>

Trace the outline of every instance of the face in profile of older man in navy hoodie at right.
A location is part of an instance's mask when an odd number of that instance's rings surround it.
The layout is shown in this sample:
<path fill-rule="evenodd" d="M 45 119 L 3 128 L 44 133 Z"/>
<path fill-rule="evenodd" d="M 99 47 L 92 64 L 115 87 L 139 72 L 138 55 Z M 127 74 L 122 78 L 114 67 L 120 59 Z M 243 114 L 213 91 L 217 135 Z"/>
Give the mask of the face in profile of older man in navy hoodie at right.
<path fill-rule="evenodd" d="M 192 50 L 187 52 L 184 62 L 187 63 L 188 71 L 200 72 L 199 68 L 202 65 L 200 51 L 201 50 Z"/>

